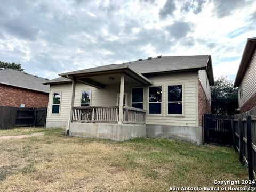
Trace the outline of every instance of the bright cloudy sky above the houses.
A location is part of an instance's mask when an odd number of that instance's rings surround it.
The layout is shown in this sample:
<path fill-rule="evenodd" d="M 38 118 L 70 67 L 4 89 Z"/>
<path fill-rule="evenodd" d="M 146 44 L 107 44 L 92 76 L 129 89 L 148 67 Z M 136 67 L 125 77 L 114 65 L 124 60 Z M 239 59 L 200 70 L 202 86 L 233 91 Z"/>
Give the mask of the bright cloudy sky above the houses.
<path fill-rule="evenodd" d="M 1 0 L 0 60 L 44 78 L 147 57 L 211 55 L 234 80 L 255 0 Z"/>

